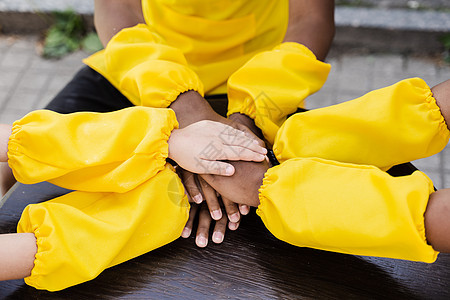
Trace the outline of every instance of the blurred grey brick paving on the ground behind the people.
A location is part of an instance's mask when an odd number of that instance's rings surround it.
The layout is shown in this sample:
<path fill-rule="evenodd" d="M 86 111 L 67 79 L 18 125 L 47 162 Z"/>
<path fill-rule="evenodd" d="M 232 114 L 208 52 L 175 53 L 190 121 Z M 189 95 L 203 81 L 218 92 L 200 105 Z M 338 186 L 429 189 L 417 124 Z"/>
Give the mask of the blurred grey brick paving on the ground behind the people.
<path fill-rule="evenodd" d="M 80 68 L 87 54 L 76 52 L 58 61 L 36 53 L 35 37 L 0 36 L 0 122 L 10 123 L 42 108 Z M 332 54 L 332 72 L 324 88 L 308 100 L 317 108 L 361 96 L 404 78 L 419 76 L 430 86 L 450 79 L 450 66 L 426 58 L 382 54 Z M 450 150 L 416 161 L 436 187 L 450 187 Z"/>

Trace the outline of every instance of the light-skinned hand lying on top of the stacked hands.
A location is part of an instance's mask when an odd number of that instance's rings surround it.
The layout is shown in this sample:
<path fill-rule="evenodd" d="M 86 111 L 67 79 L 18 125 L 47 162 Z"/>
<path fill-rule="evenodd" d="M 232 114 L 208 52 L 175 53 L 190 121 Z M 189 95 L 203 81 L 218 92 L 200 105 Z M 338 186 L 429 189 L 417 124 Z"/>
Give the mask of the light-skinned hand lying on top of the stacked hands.
<path fill-rule="evenodd" d="M 243 131 L 206 120 L 173 130 L 168 143 L 169 158 L 197 174 L 231 176 L 233 165 L 220 160 L 262 161 L 267 153 Z"/>

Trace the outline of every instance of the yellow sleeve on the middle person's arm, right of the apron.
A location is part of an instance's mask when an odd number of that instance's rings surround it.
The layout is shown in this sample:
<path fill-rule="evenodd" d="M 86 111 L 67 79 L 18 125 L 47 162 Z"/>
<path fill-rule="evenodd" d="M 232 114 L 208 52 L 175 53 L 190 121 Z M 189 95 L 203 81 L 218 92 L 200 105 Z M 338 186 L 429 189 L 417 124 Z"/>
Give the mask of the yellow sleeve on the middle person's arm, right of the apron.
<path fill-rule="evenodd" d="M 330 65 L 297 43 L 259 53 L 228 79 L 228 115 L 248 115 L 273 143 L 286 116 L 322 87 L 329 71 Z"/>

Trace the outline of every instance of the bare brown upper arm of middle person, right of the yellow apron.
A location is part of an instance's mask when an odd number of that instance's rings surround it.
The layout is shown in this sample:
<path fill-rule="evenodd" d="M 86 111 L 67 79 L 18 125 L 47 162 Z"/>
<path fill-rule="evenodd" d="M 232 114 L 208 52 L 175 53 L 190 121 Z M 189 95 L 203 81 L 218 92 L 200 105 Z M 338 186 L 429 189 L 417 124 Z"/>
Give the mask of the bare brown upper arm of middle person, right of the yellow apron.
<path fill-rule="evenodd" d="M 335 33 L 334 1 L 289 1 L 289 24 L 283 42 L 297 42 L 324 60 Z"/>

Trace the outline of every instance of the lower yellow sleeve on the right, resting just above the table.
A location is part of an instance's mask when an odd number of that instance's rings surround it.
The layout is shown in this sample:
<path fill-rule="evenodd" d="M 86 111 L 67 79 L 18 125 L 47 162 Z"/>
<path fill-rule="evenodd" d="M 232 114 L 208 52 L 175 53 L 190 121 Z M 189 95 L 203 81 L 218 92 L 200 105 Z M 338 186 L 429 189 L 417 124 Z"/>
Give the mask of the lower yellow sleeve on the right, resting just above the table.
<path fill-rule="evenodd" d="M 373 166 L 294 158 L 268 170 L 257 213 L 277 238 L 299 247 L 434 262 L 424 213 L 431 180 L 391 177 Z"/>

